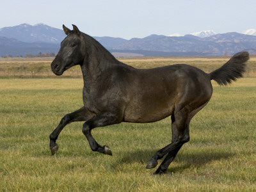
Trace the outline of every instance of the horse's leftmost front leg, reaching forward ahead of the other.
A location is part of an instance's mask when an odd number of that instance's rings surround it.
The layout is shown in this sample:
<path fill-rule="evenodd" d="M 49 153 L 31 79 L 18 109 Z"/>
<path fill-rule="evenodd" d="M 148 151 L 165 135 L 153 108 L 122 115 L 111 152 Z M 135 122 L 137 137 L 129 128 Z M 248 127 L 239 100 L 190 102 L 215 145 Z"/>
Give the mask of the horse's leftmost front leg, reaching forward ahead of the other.
<path fill-rule="evenodd" d="M 70 124 L 71 122 L 86 121 L 86 120 L 92 118 L 93 116 L 94 116 L 94 114 L 91 113 L 90 111 L 88 111 L 88 109 L 86 109 L 84 107 L 81 109 L 78 109 L 77 111 L 74 111 L 72 113 L 68 113 L 67 115 L 65 115 L 61 119 L 58 127 L 56 127 L 56 129 L 54 129 L 54 131 L 50 135 L 50 150 L 51 150 L 52 156 L 54 154 L 56 154 L 56 152 L 59 148 L 58 144 L 56 143 L 56 140 L 58 139 L 58 136 L 59 136 L 60 132 L 62 131 L 62 129 L 67 124 Z"/>

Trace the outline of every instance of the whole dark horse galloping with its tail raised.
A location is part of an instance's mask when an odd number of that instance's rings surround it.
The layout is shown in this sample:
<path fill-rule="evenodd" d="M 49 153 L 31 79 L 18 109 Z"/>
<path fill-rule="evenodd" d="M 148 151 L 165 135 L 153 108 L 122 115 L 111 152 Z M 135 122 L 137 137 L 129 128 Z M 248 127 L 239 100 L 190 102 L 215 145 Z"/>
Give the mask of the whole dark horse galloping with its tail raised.
<path fill-rule="evenodd" d="M 180 147 L 189 141 L 191 118 L 211 99 L 211 79 L 218 84 L 231 83 L 242 77 L 249 59 L 248 52 L 239 52 L 210 74 L 183 64 L 138 69 L 116 60 L 76 26 L 70 30 L 63 25 L 63 29 L 67 37 L 51 63 L 52 72 L 60 76 L 74 65 L 81 66 L 84 106 L 65 115 L 50 135 L 52 155 L 58 150 L 58 135 L 70 122 L 84 121 L 83 134 L 92 150 L 111 156 L 108 146 L 95 141 L 92 129 L 121 122 L 156 122 L 171 116 L 172 143 L 158 150 L 146 166 L 155 168 L 157 160 L 167 155 L 156 174 L 166 172 Z"/>

